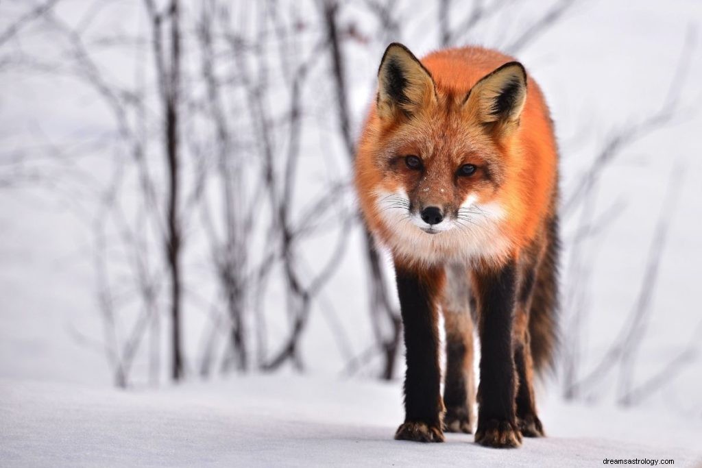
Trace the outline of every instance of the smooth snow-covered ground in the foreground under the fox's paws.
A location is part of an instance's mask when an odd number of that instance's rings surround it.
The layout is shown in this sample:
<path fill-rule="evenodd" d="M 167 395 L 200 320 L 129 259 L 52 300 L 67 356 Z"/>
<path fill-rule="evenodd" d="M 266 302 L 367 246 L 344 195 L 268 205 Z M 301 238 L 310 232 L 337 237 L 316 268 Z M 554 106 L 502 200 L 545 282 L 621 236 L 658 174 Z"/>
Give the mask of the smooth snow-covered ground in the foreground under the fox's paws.
<path fill-rule="evenodd" d="M 3 466 L 539 466 L 702 463 L 702 421 L 545 401 L 549 436 L 521 448 L 392 440 L 400 385 L 246 377 L 159 392 L 0 381 Z"/>

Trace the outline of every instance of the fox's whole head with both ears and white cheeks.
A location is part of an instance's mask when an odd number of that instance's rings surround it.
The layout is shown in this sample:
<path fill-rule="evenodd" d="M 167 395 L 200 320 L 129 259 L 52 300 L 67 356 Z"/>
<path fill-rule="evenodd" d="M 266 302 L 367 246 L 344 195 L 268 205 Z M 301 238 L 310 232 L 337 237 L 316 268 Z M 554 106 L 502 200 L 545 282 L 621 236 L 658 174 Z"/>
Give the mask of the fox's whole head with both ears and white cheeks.
<path fill-rule="evenodd" d="M 526 96 L 517 62 L 461 93 L 437 87 L 404 46 L 388 48 L 378 72 L 369 203 L 371 229 L 374 222 L 395 253 L 425 263 L 506 255 L 503 187 Z M 357 178 L 364 182 L 362 171 Z"/>

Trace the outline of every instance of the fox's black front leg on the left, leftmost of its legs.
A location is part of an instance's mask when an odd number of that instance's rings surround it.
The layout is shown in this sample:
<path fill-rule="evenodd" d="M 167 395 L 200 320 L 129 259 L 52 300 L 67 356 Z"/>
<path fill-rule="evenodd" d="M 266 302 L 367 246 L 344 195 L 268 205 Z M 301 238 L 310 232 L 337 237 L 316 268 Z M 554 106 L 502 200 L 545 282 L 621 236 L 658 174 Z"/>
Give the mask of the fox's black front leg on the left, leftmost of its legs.
<path fill-rule="evenodd" d="M 407 371 L 404 378 L 404 423 L 395 439 L 443 442 L 444 404 L 439 392 L 439 294 L 444 269 L 416 271 L 395 262 Z"/>

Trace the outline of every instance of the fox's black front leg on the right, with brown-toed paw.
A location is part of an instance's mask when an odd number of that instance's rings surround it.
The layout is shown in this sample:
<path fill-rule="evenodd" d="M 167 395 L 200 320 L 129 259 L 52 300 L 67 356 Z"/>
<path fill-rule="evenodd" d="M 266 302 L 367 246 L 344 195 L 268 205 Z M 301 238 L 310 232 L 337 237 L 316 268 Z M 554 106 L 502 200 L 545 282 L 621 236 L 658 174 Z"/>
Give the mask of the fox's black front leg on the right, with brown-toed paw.
<path fill-rule="evenodd" d="M 496 271 L 473 274 L 479 317 L 480 384 L 475 441 L 508 448 L 522 443 L 517 427 L 517 375 L 512 350 L 512 321 L 517 293 L 517 267 L 510 261 Z"/>

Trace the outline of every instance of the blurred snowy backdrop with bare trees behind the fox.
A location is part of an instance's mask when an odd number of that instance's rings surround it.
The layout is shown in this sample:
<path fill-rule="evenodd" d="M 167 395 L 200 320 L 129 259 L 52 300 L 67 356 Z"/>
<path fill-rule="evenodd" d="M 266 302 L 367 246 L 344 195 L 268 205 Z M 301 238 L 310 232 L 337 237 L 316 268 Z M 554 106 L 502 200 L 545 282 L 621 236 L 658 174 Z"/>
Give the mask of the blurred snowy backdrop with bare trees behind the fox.
<path fill-rule="evenodd" d="M 3 0 L 0 377 L 399 380 L 350 185 L 380 57 L 482 44 L 562 156 L 564 399 L 702 417 L 698 1 Z"/>

